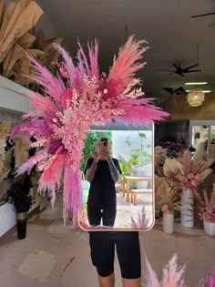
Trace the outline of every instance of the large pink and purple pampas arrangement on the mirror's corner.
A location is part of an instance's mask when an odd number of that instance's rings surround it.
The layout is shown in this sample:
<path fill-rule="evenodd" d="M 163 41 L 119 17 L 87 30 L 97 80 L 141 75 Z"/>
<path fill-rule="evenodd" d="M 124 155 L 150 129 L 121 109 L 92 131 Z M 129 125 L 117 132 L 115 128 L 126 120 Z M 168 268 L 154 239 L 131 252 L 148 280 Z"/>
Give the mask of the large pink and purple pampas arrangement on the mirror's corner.
<path fill-rule="evenodd" d="M 27 160 L 18 173 L 29 172 L 36 165 L 42 172 L 38 190 L 49 190 L 52 204 L 63 175 L 64 222 L 72 210 L 73 225 L 76 225 L 77 210 L 81 206 L 79 163 L 86 131 L 92 125 L 115 123 L 116 119 L 143 125 L 167 118 L 169 114 L 155 107 L 154 99 L 143 97 L 141 87 L 137 87 L 140 80 L 134 76 L 146 64 L 140 61 L 148 49 L 146 41 L 130 36 L 114 57 L 108 75 L 98 69 L 97 40 L 87 45 L 89 60 L 78 41 L 76 66 L 62 46 L 55 47 L 64 61 L 59 64 L 56 75 L 30 57 L 35 69 L 33 78 L 42 87 L 43 96 L 32 91 L 26 95 L 36 110 L 23 116 L 28 121 L 14 128 L 12 138 L 19 131 L 23 131 L 26 138 L 36 138 L 30 146 L 43 149 Z"/>

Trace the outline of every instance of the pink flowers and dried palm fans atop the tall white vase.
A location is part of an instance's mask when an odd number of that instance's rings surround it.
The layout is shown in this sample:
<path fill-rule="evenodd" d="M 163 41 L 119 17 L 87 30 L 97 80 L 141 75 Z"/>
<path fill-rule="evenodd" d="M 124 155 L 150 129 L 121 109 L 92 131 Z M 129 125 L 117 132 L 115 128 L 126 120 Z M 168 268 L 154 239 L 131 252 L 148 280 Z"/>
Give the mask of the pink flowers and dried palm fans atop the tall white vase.
<path fill-rule="evenodd" d="M 180 189 L 196 190 L 200 183 L 212 172 L 214 159 L 201 160 L 199 154 L 191 160 L 189 149 L 184 150 L 182 158 L 166 159 L 164 175 L 169 185 Z"/>

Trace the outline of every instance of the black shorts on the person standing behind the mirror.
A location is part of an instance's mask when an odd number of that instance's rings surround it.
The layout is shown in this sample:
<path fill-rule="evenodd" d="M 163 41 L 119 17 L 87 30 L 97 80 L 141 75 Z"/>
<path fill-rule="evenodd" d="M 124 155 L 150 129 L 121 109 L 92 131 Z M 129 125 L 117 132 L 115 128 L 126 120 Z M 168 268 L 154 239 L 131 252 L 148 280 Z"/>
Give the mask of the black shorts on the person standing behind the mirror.
<path fill-rule="evenodd" d="M 89 244 L 93 265 L 101 277 L 114 272 L 115 245 L 122 278 L 141 277 L 138 231 L 90 231 Z"/>

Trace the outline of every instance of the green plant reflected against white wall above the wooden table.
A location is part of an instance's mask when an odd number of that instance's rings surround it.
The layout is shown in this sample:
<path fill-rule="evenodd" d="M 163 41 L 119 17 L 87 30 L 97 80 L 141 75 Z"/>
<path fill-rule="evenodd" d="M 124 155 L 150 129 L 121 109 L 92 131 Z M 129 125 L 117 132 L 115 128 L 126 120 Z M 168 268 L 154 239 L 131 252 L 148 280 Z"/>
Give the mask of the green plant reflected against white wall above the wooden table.
<path fill-rule="evenodd" d="M 131 159 L 137 160 L 136 165 L 143 163 L 143 162 L 147 162 L 149 160 L 152 160 L 152 154 L 148 153 L 146 150 L 144 149 L 149 149 L 150 148 L 150 144 L 148 145 L 144 145 L 144 139 L 146 139 L 146 134 L 144 132 L 139 131 L 138 132 L 138 138 L 140 139 L 140 144 L 139 144 L 139 148 L 138 149 L 131 149 Z M 126 138 L 126 143 L 128 145 L 128 147 L 131 147 L 133 144 L 135 144 L 134 142 L 132 142 L 130 140 L 130 138 Z M 136 143 L 137 144 L 137 143 Z"/>

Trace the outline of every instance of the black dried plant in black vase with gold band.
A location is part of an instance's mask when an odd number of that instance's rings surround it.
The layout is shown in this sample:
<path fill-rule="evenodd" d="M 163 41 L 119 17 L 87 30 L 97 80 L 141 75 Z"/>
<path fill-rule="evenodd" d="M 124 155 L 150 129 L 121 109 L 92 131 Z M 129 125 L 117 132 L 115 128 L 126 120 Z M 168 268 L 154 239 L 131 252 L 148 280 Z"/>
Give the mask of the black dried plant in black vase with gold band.
<path fill-rule="evenodd" d="M 30 194 L 32 183 L 30 176 L 24 174 L 15 178 L 9 190 L 7 190 L 8 203 L 15 207 L 17 220 L 17 237 L 19 240 L 26 238 L 27 212 L 34 203 Z"/>

